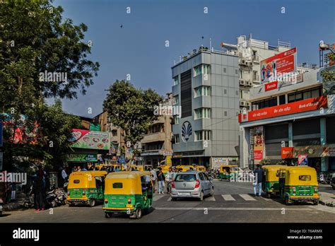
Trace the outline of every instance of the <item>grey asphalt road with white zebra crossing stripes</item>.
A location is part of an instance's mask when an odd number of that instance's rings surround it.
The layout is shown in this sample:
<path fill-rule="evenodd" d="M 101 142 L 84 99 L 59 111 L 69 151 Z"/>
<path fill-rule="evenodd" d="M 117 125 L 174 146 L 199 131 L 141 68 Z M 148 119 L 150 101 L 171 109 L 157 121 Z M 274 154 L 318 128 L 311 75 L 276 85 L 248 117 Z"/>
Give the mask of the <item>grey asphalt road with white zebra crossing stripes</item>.
<path fill-rule="evenodd" d="M 141 220 L 130 219 L 123 213 L 105 218 L 102 204 L 86 206 L 61 206 L 52 211 L 33 209 L 11 211 L 0 217 L 0 223 L 139 223 L 139 222 L 333 222 L 335 208 L 312 204 L 286 206 L 281 199 L 252 197 L 252 184 L 245 182 L 214 181 L 215 194 L 204 201 L 182 199 L 170 201 L 168 194 L 156 194 L 153 209 L 143 214 Z"/>

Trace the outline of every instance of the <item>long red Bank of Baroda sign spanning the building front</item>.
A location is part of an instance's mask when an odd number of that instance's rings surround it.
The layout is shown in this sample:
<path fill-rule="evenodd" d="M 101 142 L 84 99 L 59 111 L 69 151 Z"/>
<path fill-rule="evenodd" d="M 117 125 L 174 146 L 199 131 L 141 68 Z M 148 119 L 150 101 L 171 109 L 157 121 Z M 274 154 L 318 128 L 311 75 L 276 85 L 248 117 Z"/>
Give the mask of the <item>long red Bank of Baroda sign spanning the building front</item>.
<path fill-rule="evenodd" d="M 320 107 L 327 107 L 327 96 L 319 98 L 309 98 L 298 102 L 290 102 L 284 105 L 266 107 L 261 110 L 248 112 L 248 121 L 278 117 L 281 115 L 291 115 L 298 112 L 318 110 Z M 243 122 L 243 120 L 242 120 Z"/>

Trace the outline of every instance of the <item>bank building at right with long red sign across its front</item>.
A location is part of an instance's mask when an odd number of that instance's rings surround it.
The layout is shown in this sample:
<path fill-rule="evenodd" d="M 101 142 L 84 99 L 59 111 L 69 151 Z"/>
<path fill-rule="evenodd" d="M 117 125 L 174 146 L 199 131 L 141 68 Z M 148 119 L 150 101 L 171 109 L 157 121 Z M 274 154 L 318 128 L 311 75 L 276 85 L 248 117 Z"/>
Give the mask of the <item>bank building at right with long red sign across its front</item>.
<path fill-rule="evenodd" d="M 324 95 L 321 71 L 250 89 L 252 109 L 239 115 L 242 168 L 269 159 L 335 170 L 335 95 Z"/>

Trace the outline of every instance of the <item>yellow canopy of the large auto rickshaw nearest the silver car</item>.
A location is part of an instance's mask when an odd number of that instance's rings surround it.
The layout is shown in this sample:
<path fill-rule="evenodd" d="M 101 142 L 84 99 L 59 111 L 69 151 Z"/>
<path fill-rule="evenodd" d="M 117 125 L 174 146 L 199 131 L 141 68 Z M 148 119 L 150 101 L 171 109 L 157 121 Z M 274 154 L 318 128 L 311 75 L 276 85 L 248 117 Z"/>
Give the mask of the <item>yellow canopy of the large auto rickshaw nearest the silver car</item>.
<path fill-rule="evenodd" d="M 142 194 L 146 176 L 150 177 L 151 172 L 110 172 L 105 178 L 105 194 Z"/>

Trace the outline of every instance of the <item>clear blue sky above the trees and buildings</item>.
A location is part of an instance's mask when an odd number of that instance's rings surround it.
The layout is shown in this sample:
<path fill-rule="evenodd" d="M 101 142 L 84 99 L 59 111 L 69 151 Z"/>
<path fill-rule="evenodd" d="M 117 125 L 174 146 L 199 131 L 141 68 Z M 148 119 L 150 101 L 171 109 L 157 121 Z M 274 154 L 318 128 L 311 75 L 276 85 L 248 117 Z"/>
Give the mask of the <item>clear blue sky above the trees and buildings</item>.
<path fill-rule="evenodd" d="M 333 0 L 56 0 L 54 5 L 63 6 L 65 18 L 88 25 L 90 59 L 100 63 L 86 95 L 63 100 L 66 112 L 86 117 L 102 112 L 105 89 L 127 74 L 138 88 L 153 88 L 160 95 L 170 92 L 173 61 L 209 46 L 210 37 L 214 49 L 220 49 L 221 42 L 235 44 L 236 37 L 249 33 L 270 45 L 278 39 L 290 41 L 291 47 L 298 47 L 298 62 L 311 64 L 319 64 L 320 40 L 335 42 Z M 126 12 L 128 6 L 131 13 Z"/>

